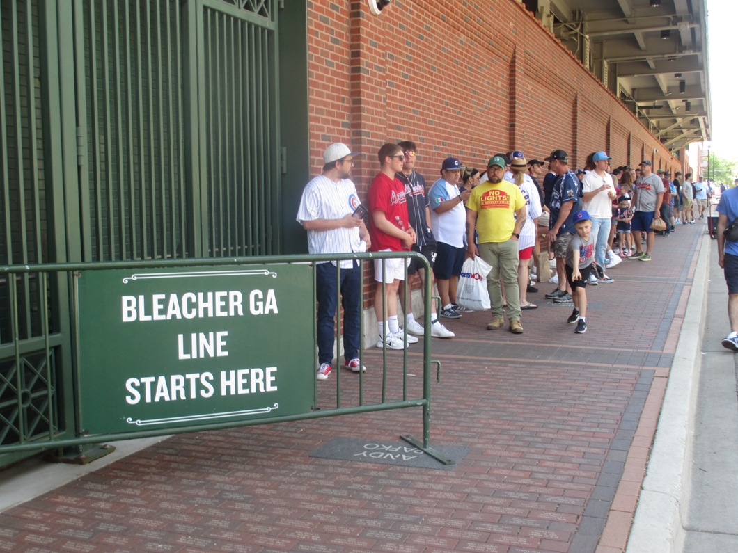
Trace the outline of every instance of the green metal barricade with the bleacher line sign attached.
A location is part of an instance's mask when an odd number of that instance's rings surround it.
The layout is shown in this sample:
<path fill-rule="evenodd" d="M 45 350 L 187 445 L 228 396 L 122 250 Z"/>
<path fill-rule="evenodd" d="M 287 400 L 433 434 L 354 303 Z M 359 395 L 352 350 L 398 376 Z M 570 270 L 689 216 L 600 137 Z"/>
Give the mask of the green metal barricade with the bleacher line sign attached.
<path fill-rule="evenodd" d="M 361 361 L 373 361 L 371 369 L 352 373 L 348 382 L 340 370 L 324 383 L 315 380 L 315 263 L 359 260 L 363 277 L 366 262 L 391 257 L 415 257 L 430 271 L 412 252 L 1 267 L 0 277 L 10 283 L 16 369 L 1 383 L 5 397 L 8 390 L 15 397 L 0 406 L 0 454 L 421 407 L 422 439 L 402 438 L 450 463 L 430 446 L 431 279 L 424 290 L 421 383 L 409 371 L 417 357 L 386 348 L 381 354 L 362 348 Z M 18 340 L 24 288 L 16 281 L 24 279 L 38 282 L 35 319 L 45 363 L 33 379 L 35 392 Z M 66 281 L 70 291 L 68 341 L 50 324 L 53 280 Z M 340 327 L 339 312 L 337 344 Z M 68 366 L 56 361 L 66 348 L 72 349 Z M 72 420 L 61 408 L 70 401 Z M 14 417 L 6 416 L 10 411 Z M 28 424 L 39 411 L 48 421 L 41 431 Z"/>

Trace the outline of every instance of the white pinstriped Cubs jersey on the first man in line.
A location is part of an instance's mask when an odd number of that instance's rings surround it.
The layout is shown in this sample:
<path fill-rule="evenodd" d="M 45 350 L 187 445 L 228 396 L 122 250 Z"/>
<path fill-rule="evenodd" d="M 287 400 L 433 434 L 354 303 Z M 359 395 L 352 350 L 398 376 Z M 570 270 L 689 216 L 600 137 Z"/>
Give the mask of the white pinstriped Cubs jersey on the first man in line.
<path fill-rule="evenodd" d="M 351 215 L 359 206 L 359 195 L 354 183 L 348 178 L 338 182 L 325 175 L 318 175 L 306 184 L 303 198 L 297 209 L 297 222 L 315 219 L 341 219 Z M 359 238 L 359 227 L 331 229 L 327 231 L 308 230 L 308 251 L 311 254 L 343 254 L 365 251 Z M 333 263 L 336 264 L 335 262 Z M 342 268 L 351 268 L 354 262 L 342 261 Z"/>

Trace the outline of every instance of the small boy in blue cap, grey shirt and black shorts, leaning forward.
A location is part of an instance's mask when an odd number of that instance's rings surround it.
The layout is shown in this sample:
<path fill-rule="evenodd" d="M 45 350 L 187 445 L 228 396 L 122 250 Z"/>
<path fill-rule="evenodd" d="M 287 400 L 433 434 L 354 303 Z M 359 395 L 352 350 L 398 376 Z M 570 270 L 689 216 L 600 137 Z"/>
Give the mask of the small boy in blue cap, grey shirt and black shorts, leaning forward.
<path fill-rule="evenodd" d="M 586 211 L 576 212 L 572 220 L 576 234 L 566 252 L 566 279 L 571 288 L 574 310 L 567 321 L 576 323 L 577 334 L 587 332 L 587 279 L 595 259 L 595 240 L 592 234 L 592 220 Z"/>

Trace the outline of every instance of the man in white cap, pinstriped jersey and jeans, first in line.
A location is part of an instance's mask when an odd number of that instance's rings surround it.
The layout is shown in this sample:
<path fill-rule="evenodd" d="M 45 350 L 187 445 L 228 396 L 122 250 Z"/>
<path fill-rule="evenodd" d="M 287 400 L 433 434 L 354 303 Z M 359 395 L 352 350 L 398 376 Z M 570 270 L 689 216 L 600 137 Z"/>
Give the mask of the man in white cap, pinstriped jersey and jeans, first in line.
<path fill-rule="evenodd" d="M 323 173 L 312 179 L 303 191 L 297 222 L 308 232 L 311 254 L 342 254 L 365 251 L 371 246 L 364 223 L 367 212 L 359 202 L 356 186 L 351 181 L 351 167 L 356 153 L 340 142 L 323 152 Z M 359 322 L 361 318 L 361 266 L 356 260 L 318 262 L 316 295 L 318 302 L 317 380 L 325 380 L 333 370 L 333 350 L 338 293 L 343 305 L 343 352 L 345 367 L 353 372 L 366 370 L 359 362 Z M 338 280 L 338 282 L 337 282 Z"/>

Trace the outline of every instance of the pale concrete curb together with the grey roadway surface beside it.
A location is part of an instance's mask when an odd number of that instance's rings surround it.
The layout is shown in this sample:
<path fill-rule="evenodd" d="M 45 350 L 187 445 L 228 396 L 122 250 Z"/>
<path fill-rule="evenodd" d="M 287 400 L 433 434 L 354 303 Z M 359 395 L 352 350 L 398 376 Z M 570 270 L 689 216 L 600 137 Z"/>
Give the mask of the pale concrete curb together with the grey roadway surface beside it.
<path fill-rule="evenodd" d="M 629 552 L 738 551 L 737 358 L 720 344 L 728 291 L 708 237 L 694 286 Z"/>

